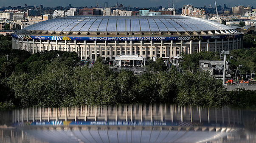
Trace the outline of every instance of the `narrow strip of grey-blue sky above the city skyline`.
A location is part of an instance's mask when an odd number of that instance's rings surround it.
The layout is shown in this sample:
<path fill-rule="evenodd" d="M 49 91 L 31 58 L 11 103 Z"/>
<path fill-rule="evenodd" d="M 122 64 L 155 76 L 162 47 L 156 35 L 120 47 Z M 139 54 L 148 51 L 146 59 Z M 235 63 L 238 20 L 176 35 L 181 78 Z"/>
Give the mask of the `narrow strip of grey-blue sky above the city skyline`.
<path fill-rule="evenodd" d="M 68 6 L 71 4 L 72 6 L 80 7 L 80 6 L 95 6 L 97 0 L 0 0 L 0 6 L 24 6 L 24 4 L 28 5 L 39 5 L 42 4 L 44 6 L 56 7 L 57 5 Z M 98 0 L 99 5 L 103 5 L 104 2 L 108 2 L 108 6 L 116 4 L 116 0 Z M 138 7 L 157 7 L 162 5 L 163 7 L 168 6 L 168 0 L 118 0 L 118 3 L 122 3 L 124 6 L 138 6 Z M 201 7 L 209 4 L 214 5 L 214 0 L 173 0 L 174 6 L 181 7 L 185 4 L 191 4 L 195 7 Z M 256 0 L 216 0 L 217 5 L 253 5 L 256 7 Z M 170 5 L 172 4 L 172 0 L 170 0 Z"/>

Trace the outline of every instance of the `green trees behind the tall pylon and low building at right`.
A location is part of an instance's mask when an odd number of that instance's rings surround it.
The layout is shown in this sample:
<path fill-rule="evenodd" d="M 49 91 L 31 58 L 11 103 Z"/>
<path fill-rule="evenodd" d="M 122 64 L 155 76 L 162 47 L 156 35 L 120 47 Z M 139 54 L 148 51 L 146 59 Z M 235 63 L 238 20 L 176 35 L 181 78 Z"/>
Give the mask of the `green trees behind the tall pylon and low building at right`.
<path fill-rule="evenodd" d="M 235 71 L 242 64 L 242 69 L 240 69 L 242 74 L 256 71 L 256 48 L 231 50 L 230 53 L 227 55 L 227 61 L 231 62 L 231 70 L 233 69 Z M 181 67 L 191 70 L 197 69 L 200 60 L 223 60 L 219 58 L 219 53 L 214 51 L 182 54 L 182 57 L 180 62 Z"/>

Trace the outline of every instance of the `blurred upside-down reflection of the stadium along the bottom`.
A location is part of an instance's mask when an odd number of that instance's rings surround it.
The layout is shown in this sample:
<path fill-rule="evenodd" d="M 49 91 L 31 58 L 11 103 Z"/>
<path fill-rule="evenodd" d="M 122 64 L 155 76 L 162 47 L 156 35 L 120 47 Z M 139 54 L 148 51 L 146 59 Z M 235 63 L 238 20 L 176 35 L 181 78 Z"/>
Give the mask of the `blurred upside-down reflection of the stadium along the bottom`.
<path fill-rule="evenodd" d="M 255 142 L 255 110 L 179 105 L 24 108 L 1 114 L 0 142 Z"/>

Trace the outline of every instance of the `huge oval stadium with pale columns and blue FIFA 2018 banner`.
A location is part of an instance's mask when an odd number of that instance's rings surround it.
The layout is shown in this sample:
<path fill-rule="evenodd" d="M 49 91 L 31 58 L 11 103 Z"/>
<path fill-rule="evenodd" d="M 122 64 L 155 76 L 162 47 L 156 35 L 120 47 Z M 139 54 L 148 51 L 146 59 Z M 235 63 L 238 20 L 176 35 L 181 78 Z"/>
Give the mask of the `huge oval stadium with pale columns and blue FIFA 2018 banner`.
<path fill-rule="evenodd" d="M 81 59 L 120 55 L 145 59 L 181 53 L 241 49 L 242 32 L 188 16 L 70 16 L 39 22 L 12 34 L 13 49 L 76 52 Z"/>

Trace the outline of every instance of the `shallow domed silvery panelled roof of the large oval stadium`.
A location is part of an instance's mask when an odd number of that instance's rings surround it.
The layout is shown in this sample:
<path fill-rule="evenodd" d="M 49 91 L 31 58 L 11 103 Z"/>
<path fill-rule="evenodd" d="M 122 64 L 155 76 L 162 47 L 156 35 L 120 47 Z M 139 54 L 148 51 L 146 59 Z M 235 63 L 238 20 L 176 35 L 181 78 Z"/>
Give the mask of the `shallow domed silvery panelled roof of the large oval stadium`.
<path fill-rule="evenodd" d="M 236 34 L 233 28 L 189 16 L 69 16 L 23 28 L 25 35 L 187 35 Z M 195 33 L 196 32 L 196 33 Z M 136 34 L 137 33 L 137 34 Z M 113 34 L 117 36 L 118 34 Z"/>

